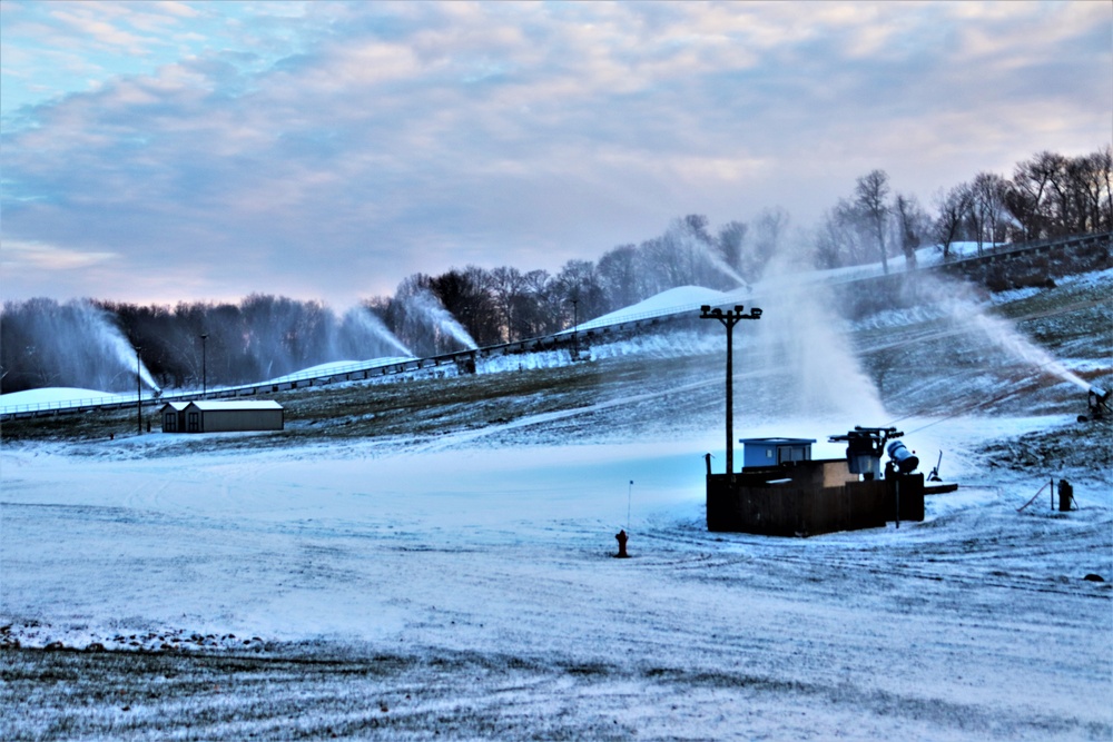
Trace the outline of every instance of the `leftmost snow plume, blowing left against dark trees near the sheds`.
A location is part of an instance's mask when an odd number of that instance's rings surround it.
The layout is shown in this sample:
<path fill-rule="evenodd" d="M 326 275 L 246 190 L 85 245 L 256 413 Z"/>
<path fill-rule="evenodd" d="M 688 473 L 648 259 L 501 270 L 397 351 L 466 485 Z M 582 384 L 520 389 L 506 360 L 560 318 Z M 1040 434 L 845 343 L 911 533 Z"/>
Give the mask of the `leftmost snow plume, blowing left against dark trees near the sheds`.
<path fill-rule="evenodd" d="M 79 386 L 134 392 L 136 374 L 158 390 L 136 348 L 111 315 L 85 299 L 6 303 L 2 325 L 6 387 Z"/>

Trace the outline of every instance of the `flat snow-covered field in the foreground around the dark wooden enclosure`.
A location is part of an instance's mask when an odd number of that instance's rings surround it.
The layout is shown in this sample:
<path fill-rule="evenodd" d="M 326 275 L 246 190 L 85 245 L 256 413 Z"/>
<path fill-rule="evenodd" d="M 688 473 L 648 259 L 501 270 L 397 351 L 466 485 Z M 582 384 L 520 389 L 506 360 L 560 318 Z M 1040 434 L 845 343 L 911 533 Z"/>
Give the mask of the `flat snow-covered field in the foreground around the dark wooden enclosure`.
<path fill-rule="evenodd" d="M 1067 422 L 988 433 L 1033 424 Z M 144 445 L 3 452 L 8 643 L 247 670 L 154 692 L 125 675 L 99 703 L 20 698 L 4 739 L 1113 733 L 1113 594 L 1083 578 L 1113 574 L 1100 485 L 1080 487 L 1076 512 L 1041 498 L 1017 513 L 1034 482 L 956 471 L 968 486 L 929 498 L 924 523 L 796 541 L 707 533 L 712 441 L 180 458 Z M 615 560 L 628 508 L 633 558 Z M 6 651 L 9 690 L 65 654 Z M 311 679 L 286 662 L 336 655 L 354 669 Z"/>

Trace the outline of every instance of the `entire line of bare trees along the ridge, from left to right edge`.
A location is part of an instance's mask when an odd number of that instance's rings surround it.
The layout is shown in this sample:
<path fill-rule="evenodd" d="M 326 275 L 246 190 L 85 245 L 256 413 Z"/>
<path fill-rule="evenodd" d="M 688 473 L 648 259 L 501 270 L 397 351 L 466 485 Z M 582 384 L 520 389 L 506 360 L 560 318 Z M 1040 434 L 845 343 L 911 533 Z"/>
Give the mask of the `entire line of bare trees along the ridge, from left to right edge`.
<path fill-rule="evenodd" d="M 894 191 L 884 170 L 856 179 L 819 225 L 792 247 L 817 268 L 880 261 L 957 241 L 985 246 L 1113 230 L 1113 149 L 1066 157 L 1040 152 L 1011 178 L 979 172 L 940 191 L 934 214 Z M 338 314 L 315 300 L 253 294 L 238 303 L 137 306 L 105 300 L 7 301 L 0 311 L 0 390 L 40 386 L 130 388 L 120 360 L 139 356 L 161 386 L 265 380 L 329 360 L 430 356 L 549 335 L 679 286 L 732 289 L 760 280 L 786 249 L 789 215 L 767 208 L 749 222 L 712 228 L 673 219 L 663 234 L 615 246 L 598 260 L 573 259 L 555 274 L 511 266 L 414 274 L 391 296 Z M 83 347 L 85 349 L 80 349 Z M 89 348 L 93 348 L 90 350 Z M 99 348 L 99 349 L 97 349 Z M 90 355 L 91 354 L 91 355 Z M 90 356 L 90 357 L 86 357 Z M 126 366 L 125 366 L 126 367 Z"/>

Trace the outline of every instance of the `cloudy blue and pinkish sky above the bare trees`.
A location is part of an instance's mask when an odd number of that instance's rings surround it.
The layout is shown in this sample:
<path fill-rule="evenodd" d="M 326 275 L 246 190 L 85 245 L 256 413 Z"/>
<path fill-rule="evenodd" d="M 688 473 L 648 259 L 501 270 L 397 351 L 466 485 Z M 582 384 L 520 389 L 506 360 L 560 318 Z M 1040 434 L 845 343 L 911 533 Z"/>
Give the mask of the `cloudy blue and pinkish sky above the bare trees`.
<path fill-rule="evenodd" d="M 0 2 L 0 294 L 337 308 L 1113 138 L 1113 3 Z"/>

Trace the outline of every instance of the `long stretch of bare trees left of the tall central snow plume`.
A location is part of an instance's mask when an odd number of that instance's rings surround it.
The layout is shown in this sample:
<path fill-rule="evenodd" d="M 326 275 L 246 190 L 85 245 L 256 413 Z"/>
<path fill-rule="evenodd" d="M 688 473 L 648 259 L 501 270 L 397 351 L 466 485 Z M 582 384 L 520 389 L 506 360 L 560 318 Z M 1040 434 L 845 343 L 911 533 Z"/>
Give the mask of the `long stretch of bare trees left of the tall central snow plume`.
<path fill-rule="evenodd" d="M 598 261 L 569 260 L 555 275 L 510 266 L 414 274 L 393 296 L 344 314 L 319 301 L 266 294 L 175 307 L 7 301 L 0 314 L 0 390 L 132 388 L 129 353 L 100 365 L 66 362 L 85 357 L 80 348 L 104 345 L 105 338 L 119 339 L 129 352 L 138 348 L 160 386 L 197 387 L 266 380 L 332 360 L 430 356 L 538 337 L 677 286 L 725 289 L 752 280 L 777 251 L 787 220 L 784 211 L 769 210 L 752 230 L 731 221 L 712 233 L 706 217 L 691 215 Z"/>

